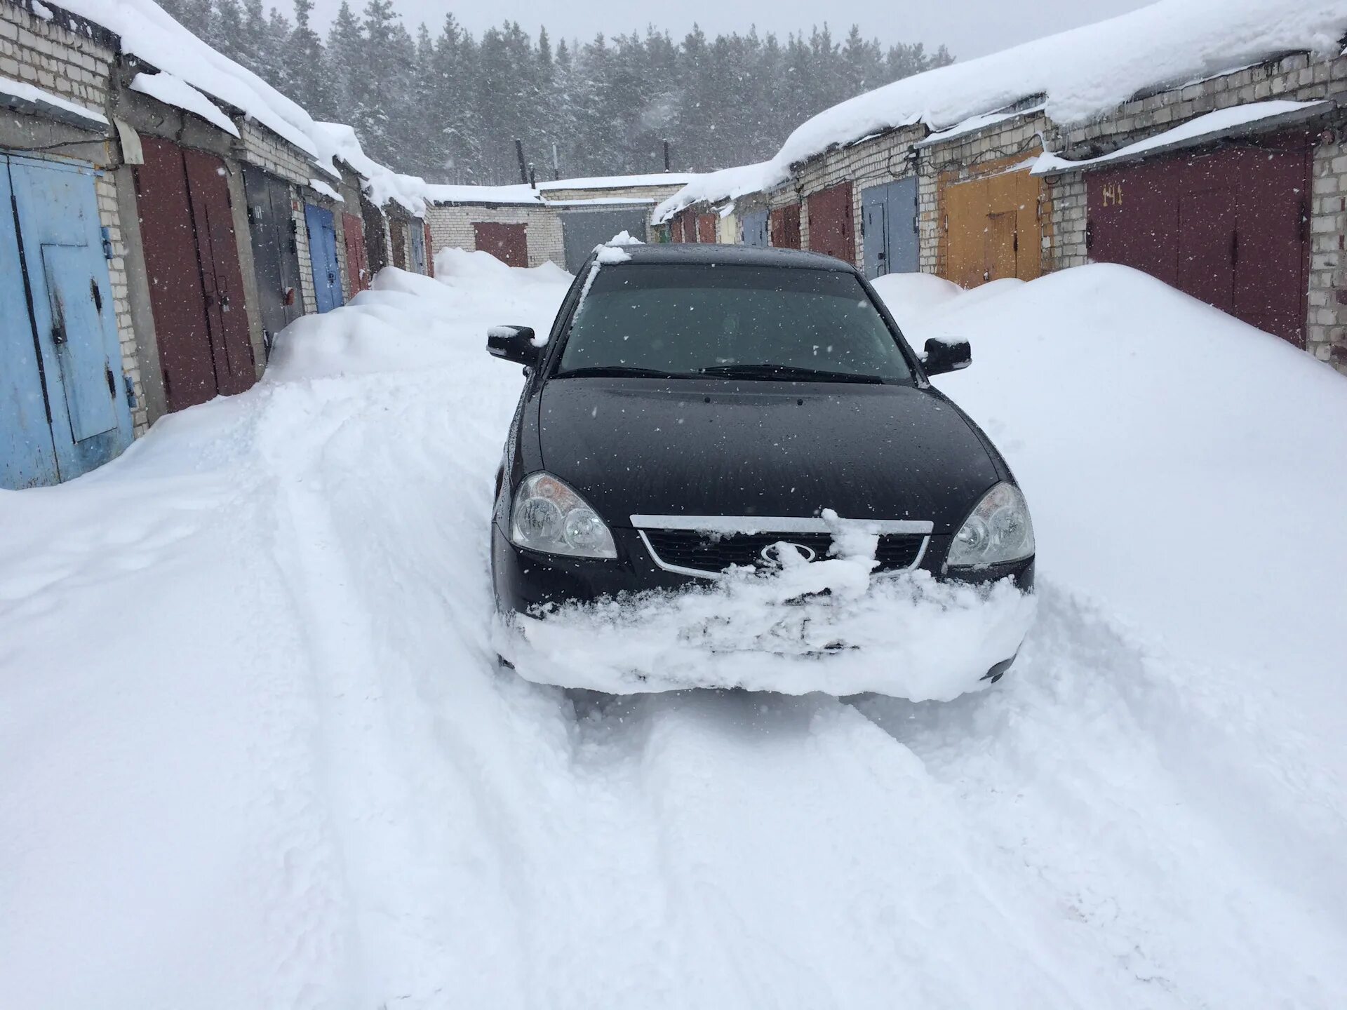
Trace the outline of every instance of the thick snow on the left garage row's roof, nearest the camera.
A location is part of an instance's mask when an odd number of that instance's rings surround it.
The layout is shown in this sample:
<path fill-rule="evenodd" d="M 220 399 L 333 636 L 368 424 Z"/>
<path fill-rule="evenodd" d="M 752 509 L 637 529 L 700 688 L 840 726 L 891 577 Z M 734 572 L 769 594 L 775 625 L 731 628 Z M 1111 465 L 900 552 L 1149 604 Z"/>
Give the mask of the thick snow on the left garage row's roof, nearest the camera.
<path fill-rule="evenodd" d="M 241 109 L 287 143 L 318 158 L 314 120 L 251 70 L 217 53 L 152 0 L 61 0 L 61 5 L 121 36 L 124 51 Z M 319 163 L 321 168 L 327 168 Z"/>

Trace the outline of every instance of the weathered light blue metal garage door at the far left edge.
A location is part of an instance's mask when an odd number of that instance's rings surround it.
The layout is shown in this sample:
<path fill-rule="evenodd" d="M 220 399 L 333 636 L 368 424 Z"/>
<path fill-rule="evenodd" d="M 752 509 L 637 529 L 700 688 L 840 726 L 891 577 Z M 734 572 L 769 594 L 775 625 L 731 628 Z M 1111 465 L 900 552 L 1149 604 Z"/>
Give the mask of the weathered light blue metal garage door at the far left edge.
<path fill-rule="evenodd" d="M 78 477 L 131 438 L 94 172 L 0 154 L 0 487 Z"/>

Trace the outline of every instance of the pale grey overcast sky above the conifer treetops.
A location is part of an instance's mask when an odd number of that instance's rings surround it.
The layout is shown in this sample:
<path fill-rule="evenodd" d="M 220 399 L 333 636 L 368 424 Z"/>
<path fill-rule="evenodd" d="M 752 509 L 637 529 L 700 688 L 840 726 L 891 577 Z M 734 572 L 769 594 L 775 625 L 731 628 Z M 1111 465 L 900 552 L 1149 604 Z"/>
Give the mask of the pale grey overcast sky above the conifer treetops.
<path fill-rule="evenodd" d="M 960 59 L 978 57 L 1018 42 L 1051 35 L 1064 28 L 1103 20 L 1123 11 L 1144 7 L 1148 0 L 393 0 L 409 28 L 426 22 L 432 32 L 447 11 L 481 35 L 502 20 L 517 20 L 529 35 L 540 24 L 552 38 L 587 40 L 595 32 L 606 35 L 644 31 L 647 24 L 667 28 L 682 38 L 696 22 L 709 35 L 746 31 L 780 35 L 824 20 L 834 35 L 845 35 L 853 23 L 866 38 L 882 42 L 942 42 Z M 349 0 L 360 11 L 365 0 Z M 341 0 L 317 0 L 317 13 L 325 24 Z M 284 0 L 280 3 L 284 7 Z M 326 34 L 326 27 L 323 28 Z"/>

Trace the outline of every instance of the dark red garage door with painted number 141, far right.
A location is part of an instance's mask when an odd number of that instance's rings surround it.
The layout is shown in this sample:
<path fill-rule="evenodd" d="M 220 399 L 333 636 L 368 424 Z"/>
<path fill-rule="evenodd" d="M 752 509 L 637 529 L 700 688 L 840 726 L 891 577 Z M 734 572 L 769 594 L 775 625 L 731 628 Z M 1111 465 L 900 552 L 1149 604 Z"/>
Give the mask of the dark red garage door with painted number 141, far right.
<path fill-rule="evenodd" d="M 1091 172 L 1090 257 L 1303 347 L 1309 171 L 1309 137 L 1297 133 Z"/>

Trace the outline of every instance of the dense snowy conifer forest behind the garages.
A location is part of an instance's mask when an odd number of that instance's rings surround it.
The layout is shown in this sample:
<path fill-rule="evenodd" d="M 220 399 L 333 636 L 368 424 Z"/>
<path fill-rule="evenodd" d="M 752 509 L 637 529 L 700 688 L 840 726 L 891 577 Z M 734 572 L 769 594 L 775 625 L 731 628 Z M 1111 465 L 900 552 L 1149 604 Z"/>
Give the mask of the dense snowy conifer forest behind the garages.
<path fill-rule="evenodd" d="M 756 28 L 682 40 L 597 35 L 585 44 L 536 40 L 506 22 L 474 38 L 446 15 L 415 34 L 395 0 L 342 0 L 326 40 L 314 0 L 291 0 L 294 24 L 271 0 L 162 0 L 186 27 L 294 98 L 315 119 L 349 123 L 365 151 L 432 182 L 519 182 L 515 140 L 539 179 L 652 172 L 664 141 L 675 170 L 769 158 L 815 113 L 900 77 L 951 63 L 944 46 L 882 46 L 827 24 L 781 40 Z"/>

